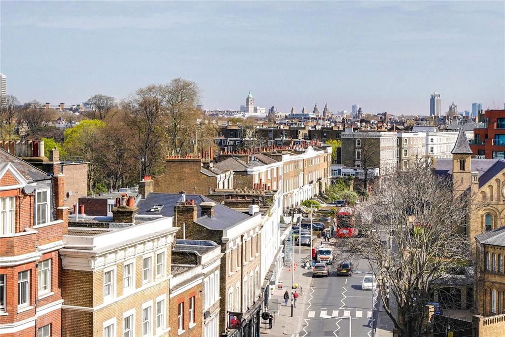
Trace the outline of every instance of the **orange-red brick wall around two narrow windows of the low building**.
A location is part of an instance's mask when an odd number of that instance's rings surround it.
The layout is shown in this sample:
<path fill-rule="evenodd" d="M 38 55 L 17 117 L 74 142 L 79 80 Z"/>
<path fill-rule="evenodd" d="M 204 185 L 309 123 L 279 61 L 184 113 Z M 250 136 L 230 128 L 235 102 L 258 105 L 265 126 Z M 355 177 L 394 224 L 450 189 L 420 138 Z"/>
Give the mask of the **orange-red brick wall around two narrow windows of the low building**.
<path fill-rule="evenodd" d="M 202 317 L 202 308 L 204 305 L 203 296 L 202 296 L 202 285 L 201 283 L 196 286 L 191 287 L 187 291 L 178 294 L 170 299 L 170 307 L 169 307 L 169 318 L 170 318 L 170 326 L 172 327 L 171 335 L 177 336 L 177 316 L 178 316 L 178 305 L 179 303 L 184 303 L 184 333 L 179 334 L 179 337 L 193 337 L 193 336 L 202 336 L 203 332 L 203 317 Z M 195 309 L 194 309 L 194 322 L 195 326 L 189 327 L 189 299 L 191 297 L 195 298 Z"/>

